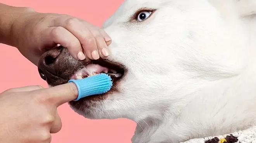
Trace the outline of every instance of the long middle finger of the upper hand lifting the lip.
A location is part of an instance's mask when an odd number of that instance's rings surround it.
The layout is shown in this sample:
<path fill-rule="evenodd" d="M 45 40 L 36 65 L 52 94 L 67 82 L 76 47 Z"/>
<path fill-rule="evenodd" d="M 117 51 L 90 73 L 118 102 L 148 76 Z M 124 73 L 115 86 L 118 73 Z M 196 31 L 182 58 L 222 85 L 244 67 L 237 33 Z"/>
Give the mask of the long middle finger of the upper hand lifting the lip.
<path fill-rule="evenodd" d="M 75 17 L 55 20 L 55 26 L 62 26 L 80 41 L 86 56 L 92 60 L 99 59 L 96 39 L 84 22 Z"/>

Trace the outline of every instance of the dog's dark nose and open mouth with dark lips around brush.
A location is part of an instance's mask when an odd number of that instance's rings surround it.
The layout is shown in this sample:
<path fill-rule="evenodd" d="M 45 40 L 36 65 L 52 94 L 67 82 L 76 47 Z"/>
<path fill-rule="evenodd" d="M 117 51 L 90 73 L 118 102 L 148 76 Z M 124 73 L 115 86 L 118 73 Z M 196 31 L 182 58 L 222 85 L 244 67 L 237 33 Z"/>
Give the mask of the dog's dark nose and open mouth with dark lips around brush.
<path fill-rule="evenodd" d="M 38 62 L 39 75 L 50 87 L 65 84 L 71 79 L 79 80 L 99 73 L 106 73 L 111 77 L 113 83 L 108 92 L 69 102 L 69 105 L 79 114 L 89 114 L 93 107 L 101 104 L 108 96 L 120 92 L 120 83 L 127 71 L 126 66 L 113 60 L 103 58 L 90 60 L 88 57 L 84 60 L 76 60 L 62 46 L 47 51 Z"/>

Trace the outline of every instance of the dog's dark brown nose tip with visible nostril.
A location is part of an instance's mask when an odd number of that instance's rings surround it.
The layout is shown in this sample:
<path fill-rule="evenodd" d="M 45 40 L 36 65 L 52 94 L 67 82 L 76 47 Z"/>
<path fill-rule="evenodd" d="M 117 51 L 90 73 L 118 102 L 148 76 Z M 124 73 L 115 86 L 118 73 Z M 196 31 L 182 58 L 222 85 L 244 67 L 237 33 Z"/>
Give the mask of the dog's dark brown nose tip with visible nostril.
<path fill-rule="evenodd" d="M 57 47 L 50 49 L 45 52 L 38 62 L 38 72 L 43 80 L 46 80 L 47 74 L 55 74 L 56 69 L 59 66 L 59 55 L 61 54 L 62 48 Z"/>

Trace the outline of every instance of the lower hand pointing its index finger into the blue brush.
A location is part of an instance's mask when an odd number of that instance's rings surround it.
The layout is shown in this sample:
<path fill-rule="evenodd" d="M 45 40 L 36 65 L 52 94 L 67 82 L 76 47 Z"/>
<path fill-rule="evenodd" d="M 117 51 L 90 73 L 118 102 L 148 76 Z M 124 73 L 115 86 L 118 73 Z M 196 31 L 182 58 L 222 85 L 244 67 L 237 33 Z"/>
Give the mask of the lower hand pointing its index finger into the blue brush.
<path fill-rule="evenodd" d="M 57 107 L 77 95 L 74 83 L 48 89 L 28 86 L 1 93 L 1 143 L 50 143 L 50 133 L 57 133 L 62 127 Z"/>

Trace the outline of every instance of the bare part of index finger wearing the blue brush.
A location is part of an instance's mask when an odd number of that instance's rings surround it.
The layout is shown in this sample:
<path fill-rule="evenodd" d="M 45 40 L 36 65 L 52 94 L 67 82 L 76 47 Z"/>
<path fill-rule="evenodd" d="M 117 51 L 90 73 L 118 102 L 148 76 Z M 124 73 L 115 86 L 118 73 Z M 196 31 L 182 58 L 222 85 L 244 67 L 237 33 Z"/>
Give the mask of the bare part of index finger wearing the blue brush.
<path fill-rule="evenodd" d="M 64 103 L 72 101 L 78 96 L 78 89 L 74 83 L 66 83 L 49 87 L 47 89 L 39 89 L 37 94 L 43 97 L 44 100 L 52 102 L 55 106 L 61 106 Z"/>

